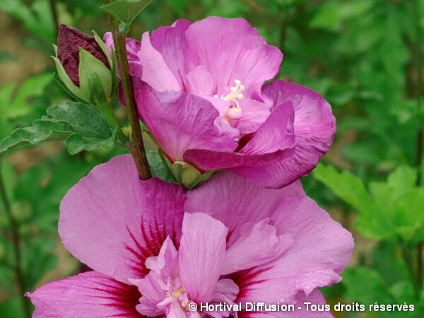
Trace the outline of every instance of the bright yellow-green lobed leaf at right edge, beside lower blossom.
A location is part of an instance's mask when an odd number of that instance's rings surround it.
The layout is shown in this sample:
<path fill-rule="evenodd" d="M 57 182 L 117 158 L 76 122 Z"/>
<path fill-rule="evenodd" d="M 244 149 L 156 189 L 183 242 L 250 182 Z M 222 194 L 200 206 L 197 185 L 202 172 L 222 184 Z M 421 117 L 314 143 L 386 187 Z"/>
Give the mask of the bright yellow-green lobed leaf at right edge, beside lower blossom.
<path fill-rule="evenodd" d="M 387 182 L 370 182 L 370 194 L 351 172 L 319 165 L 314 177 L 358 210 L 356 227 L 372 239 L 415 245 L 424 241 L 424 187 L 416 187 L 416 172 L 401 166 Z"/>

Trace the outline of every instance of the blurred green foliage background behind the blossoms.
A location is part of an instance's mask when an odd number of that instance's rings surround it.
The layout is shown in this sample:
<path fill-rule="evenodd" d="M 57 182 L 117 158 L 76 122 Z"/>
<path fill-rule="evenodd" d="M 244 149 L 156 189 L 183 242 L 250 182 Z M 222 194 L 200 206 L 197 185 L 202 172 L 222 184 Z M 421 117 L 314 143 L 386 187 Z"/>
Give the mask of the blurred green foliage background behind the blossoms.
<path fill-rule="evenodd" d="M 55 42 L 55 20 L 86 32 L 107 31 L 100 5 L 101 1 L 86 0 L 3 0 L 0 10 L 25 30 L 23 45 L 30 43 L 52 54 L 49 44 Z M 141 8 L 131 6 L 134 11 Z M 134 18 L 117 14 L 122 20 Z M 140 38 L 142 32 L 170 25 L 177 18 L 199 20 L 211 15 L 247 18 L 269 44 L 283 51 L 278 77 L 319 91 L 333 106 L 338 123 L 333 150 L 324 158 L 326 165 L 303 179 L 307 193 L 335 213 L 356 239 L 351 266 L 342 274 L 341 285 L 325 289 L 327 300 L 415 306 L 413 312 L 401 314 L 336 312 L 336 317 L 423 317 L 424 1 L 155 0 L 136 16 L 129 34 Z M 0 50 L 0 63 L 16 62 L 14 52 Z M 0 139 L 16 127 L 30 126 L 48 107 L 65 107 L 64 93 L 52 72 L 50 63 L 43 73 L 0 88 Z M 66 145 L 71 153 L 99 146 L 91 135 L 81 135 L 57 120 L 52 108 L 47 114 L 50 117 L 43 124 L 52 126 L 44 126 L 45 133 L 57 132 L 61 124 L 59 132 L 66 138 L 74 136 Z M 94 122 L 95 129 L 102 126 L 106 139 L 112 136 L 100 122 Z M 40 121 L 33 127 L 40 129 Z M 22 135 L 22 130 L 10 138 L 16 144 L 31 143 L 31 136 Z M 21 237 L 25 290 L 33 290 L 57 268 L 61 198 L 91 167 L 117 151 L 96 148 L 72 157 L 54 144 L 54 151 L 42 148 L 42 160 L 22 169 L 13 160 L 20 148 L 2 154 L 0 171 Z M 159 167 L 156 157 L 151 164 Z M 158 173 L 169 177 L 166 170 Z M 16 284 L 13 226 L 4 203 L 0 201 L 0 313 L 25 317 Z M 73 272 L 77 270 L 73 266 Z"/>

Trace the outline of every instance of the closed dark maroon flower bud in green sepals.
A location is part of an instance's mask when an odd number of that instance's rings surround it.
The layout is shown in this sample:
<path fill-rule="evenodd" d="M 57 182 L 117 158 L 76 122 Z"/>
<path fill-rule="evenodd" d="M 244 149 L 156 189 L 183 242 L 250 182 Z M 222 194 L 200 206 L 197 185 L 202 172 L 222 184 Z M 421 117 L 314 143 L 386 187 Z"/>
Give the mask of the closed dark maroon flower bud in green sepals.
<path fill-rule="evenodd" d="M 92 105 L 105 103 L 112 95 L 112 60 L 105 43 L 95 34 L 61 25 L 57 39 L 57 75 L 75 98 Z"/>

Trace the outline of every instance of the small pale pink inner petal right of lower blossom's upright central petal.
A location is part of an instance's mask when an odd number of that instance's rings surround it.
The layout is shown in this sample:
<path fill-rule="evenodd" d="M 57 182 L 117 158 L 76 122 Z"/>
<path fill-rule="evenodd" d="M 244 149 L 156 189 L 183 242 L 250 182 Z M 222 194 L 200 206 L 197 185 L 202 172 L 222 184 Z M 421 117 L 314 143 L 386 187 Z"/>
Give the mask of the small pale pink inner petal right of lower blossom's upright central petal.
<path fill-rule="evenodd" d="M 246 234 L 234 242 L 225 254 L 222 275 L 251 269 L 274 261 L 293 245 L 291 235 L 276 235 L 270 220 L 247 223 L 241 232 Z"/>

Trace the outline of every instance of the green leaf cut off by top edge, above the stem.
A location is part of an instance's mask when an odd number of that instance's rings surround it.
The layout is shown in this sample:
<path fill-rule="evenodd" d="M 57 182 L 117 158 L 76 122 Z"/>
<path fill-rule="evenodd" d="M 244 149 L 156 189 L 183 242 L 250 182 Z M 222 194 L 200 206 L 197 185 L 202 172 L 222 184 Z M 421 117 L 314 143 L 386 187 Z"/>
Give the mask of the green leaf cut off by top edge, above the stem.
<path fill-rule="evenodd" d="M 117 0 L 100 8 L 124 23 L 131 23 L 153 0 Z"/>

